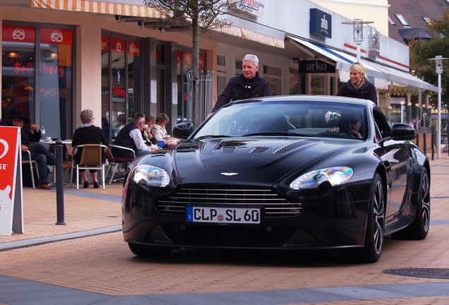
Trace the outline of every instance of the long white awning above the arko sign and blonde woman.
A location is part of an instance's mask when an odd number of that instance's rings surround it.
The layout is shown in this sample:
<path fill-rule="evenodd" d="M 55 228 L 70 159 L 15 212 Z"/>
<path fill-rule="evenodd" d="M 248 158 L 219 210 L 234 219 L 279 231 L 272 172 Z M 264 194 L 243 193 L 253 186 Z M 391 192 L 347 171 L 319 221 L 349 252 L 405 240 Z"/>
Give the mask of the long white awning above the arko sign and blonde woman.
<path fill-rule="evenodd" d="M 339 71 L 340 80 L 343 82 L 349 80 L 349 70 L 352 64 L 357 61 L 355 56 L 335 49 L 330 49 L 321 44 L 301 40 L 297 37 L 288 37 L 291 40 L 294 40 L 294 42 L 335 61 L 335 68 Z M 384 66 L 383 64 L 378 64 L 366 59 L 361 59 L 361 62 L 366 68 L 366 76 L 374 79 L 374 85 L 379 90 L 396 93 L 406 92 L 407 90 L 417 92 L 419 89 L 438 92 L 438 87 L 426 83 L 424 80 L 412 76 L 405 71 L 399 71 L 395 68 Z"/>

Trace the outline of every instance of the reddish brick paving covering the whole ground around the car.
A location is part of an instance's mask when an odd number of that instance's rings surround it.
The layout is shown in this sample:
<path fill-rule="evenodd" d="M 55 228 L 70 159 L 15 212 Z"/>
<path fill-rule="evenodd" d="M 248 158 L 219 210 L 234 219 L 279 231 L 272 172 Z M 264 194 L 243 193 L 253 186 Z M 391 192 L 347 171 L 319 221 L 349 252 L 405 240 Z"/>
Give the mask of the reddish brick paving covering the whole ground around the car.
<path fill-rule="evenodd" d="M 121 184 L 23 190 L 24 234 L 0 236 L 0 304 L 448 304 L 449 280 L 383 273 L 449 270 L 449 157 L 431 161 L 431 229 L 423 241 L 386 239 L 381 260 L 329 251 L 181 249 L 133 256 L 121 232 Z M 2 303 L 3 302 L 3 303 Z"/>

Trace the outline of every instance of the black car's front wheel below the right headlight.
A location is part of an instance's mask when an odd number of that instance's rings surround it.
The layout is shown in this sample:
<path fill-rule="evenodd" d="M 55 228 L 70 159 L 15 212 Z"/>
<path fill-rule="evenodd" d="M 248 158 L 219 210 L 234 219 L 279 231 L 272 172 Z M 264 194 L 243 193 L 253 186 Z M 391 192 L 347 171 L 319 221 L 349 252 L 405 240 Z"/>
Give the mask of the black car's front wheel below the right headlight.
<path fill-rule="evenodd" d="M 376 263 L 381 258 L 384 233 L 385 193 L 381 176 L 376 173 L 371 184 L 364 248 L 355 250 L 357 261 Z"/>

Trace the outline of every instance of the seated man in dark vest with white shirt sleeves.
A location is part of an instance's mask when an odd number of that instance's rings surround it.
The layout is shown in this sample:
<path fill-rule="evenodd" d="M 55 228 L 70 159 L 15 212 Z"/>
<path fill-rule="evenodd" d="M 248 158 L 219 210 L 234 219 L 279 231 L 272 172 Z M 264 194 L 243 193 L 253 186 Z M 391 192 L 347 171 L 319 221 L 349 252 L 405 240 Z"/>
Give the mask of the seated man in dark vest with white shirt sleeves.
<path fill-rule="evenodd" d="M 131 148 L 136 153 L 136 157 L 150 153 L 150 148 L 142 138 L 142 130 L 145 125 L 145 114 L 136 112 L 133 120 L 128 125 L 121 128 L 114 141 L 114 145 Z M 112 150 L 114 157 L 132 158 L 132 152 L 126 150 Z"/>

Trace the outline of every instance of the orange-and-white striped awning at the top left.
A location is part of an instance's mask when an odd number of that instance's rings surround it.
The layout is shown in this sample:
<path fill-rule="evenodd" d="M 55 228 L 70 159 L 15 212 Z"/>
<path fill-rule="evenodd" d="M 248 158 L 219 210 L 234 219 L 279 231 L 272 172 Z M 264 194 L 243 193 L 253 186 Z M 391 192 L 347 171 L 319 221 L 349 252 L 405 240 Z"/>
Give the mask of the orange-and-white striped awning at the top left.
<path fill-rule="evenodd" d="M 110 15 L 133 16 L 143 18 L 163 18 L 160 11 L 142 4 L 143 1 L 88 1 L 88 0 L 32 0 L 33 8 L 52 8 L 62 11 L 76 11 L 82 13 L 104 13 Z M 131 4 L 130 4 L 131 2 Z"/>

